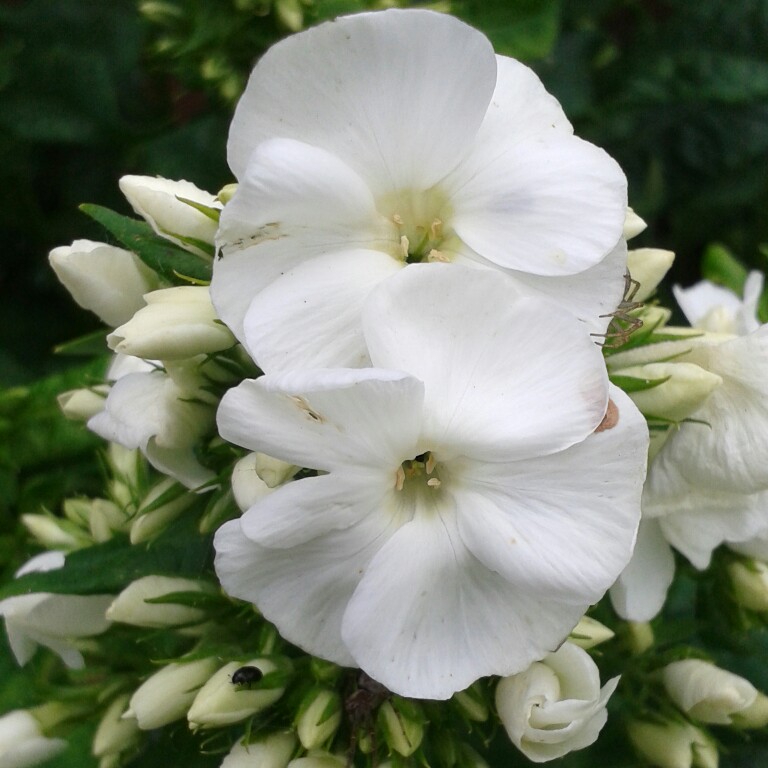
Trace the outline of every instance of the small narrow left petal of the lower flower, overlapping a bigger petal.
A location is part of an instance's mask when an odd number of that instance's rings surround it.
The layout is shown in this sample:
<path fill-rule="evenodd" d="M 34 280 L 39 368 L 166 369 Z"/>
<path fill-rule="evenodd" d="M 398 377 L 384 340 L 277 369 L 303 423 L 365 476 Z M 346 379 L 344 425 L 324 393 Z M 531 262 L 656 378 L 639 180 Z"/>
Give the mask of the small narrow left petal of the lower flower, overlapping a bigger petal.
<path fill-rule="evenodd" d="M 251 541 L 265 547 L 288 548 L 348 528 L 385 507 L 395 493 L 394 474 L 336 473 L 296 480 L 281 486 L 251 507 L 240 528 Z M 292 557 L 286 553 L 286 557 Z"/>

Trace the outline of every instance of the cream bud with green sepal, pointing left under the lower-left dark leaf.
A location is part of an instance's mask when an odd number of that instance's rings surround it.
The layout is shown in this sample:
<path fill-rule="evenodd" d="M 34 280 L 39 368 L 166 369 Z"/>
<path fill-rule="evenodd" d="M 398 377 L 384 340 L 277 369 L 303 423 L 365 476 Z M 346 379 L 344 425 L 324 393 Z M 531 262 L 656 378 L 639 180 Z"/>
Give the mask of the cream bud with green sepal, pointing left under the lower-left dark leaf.
<path fill-rule="evenodd" d="M 147 602 L 175 593 L 180 593 L 179 602 Z M 182 602 L 194 593 L 204 596 L 213 594 L 213 590 L 208 584 L 192 579 L 144 576 L 131 582 L 115 598 L 107 609 L 107 618 L 137 627 L 160 628 L 197 624 L 205 619 L 205 611 Z"/>

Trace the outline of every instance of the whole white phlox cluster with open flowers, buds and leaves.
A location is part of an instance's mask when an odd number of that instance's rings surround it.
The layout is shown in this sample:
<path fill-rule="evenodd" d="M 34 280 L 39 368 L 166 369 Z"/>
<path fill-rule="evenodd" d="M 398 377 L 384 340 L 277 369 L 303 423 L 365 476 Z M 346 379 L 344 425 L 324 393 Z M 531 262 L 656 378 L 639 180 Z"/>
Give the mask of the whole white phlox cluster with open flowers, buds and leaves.
<path fill-rule="evenodd" d="M 20 665 L 90 677 L 0 719 L 0 756 L 94 710 L 101 768 L 178 721 L 222 768 L 478 767 L 498 734 L 557 760 L 609 699 L 662 768 L 764 728 L 757 688 L 648 623 L 673 548 L 768 615 L 761 276 L 676 289 L 669 326 L 673 254 L 628 250 L 616 163 L 431 11 L 274 46 L 228 151 L 218 195 L 124 177 L 141 221 L 84 208 L 125 247 L 50 254 L 109 326 L 104 379 L 60 396 L 106 490 L 24 516 L 48 551 L 0 615 Z"/>

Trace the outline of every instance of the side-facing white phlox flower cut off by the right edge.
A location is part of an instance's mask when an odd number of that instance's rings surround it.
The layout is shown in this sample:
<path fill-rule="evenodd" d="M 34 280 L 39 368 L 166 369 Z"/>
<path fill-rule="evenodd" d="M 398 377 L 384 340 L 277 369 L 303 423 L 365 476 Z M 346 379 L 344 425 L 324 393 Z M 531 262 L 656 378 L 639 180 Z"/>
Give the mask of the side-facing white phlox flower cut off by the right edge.
<path fill-rule="evenodd" d="M 658 359 L 692 363 L 722 380 L 690 419 L 670 430 L 650 464 L 637 546 L 611 590 L 625 618 L 646 621 L 661 610 L 674 575 L 670 545 L 704 569 L 721 544 L 768 532 L 768 328 L 756 316 L 761 292 L 757 272 L 743 301 L 711 283 L 676 286 L 701 335 L 611 358 L 617 368 Z"/>

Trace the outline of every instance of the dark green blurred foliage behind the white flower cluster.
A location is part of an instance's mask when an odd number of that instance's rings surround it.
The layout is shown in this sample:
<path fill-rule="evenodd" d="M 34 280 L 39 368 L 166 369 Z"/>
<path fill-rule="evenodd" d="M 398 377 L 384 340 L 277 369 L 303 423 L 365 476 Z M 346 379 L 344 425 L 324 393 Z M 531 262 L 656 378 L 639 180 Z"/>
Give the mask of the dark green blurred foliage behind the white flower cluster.
<path fill-rule="evenodd" d="M 392 3 L 390 3 L 392 4 Z M 428 5 L 428 3 L 401 3 Z M 314 0 L 304 23 L 377 5 Z M 497 51 L 525 60 L 581 136 L 630 180 L 649 230 L 637 246 L 678 254 L 673 279 L 699 276 L 721 241 L 764 268 L 768 242 L 768 0 L 452 0 Z M 64 422 L 54 397 L 99 375 L 52 348 L 99 327 L 48 268 L 56 246 L 104 239 L 83 202 L 130 213 L 127 173 L 186 178 L 210 191 L 225 161 L 234 95 L 253 62 L 288 33 L 271 0 L 166 0 L 142 17 L 134 0 L 0 0 L 0 575 L 29 553 L 17 516 L 99 493 L 98 442 Z M 172 12 L 173 9 L 178 12 Z M 41 377 L 55 376 L 40 381 Z M 765 648 L 764 634 L 751 646 Z M 2 641 L 0 641 L 2 642 Z M 39 662 L 36 662 L 39 663 Z M 735 668 L 735 667 L 734 667 Z M 0 646 L 0 711 L 34 704 L 27 675 Z M 614 739 L 612 741 L 612 738 Z M 639 765 L 620 734 L 564 765 Z M 89 765 L 89 734 L 56 766 Z M 142 757 L 218 765 L 189 739 Z M 765 739 L 730 745 L 727 768 L 765 759 Z M 498 763 L 501 765 L 502 763 Z M 516 764 L 527 764 L 522 757 Z"/>

